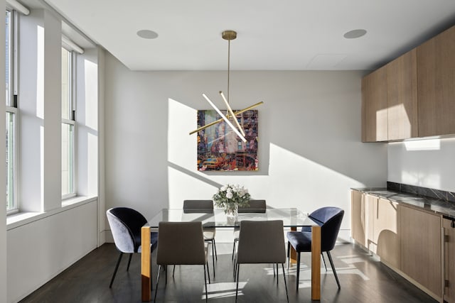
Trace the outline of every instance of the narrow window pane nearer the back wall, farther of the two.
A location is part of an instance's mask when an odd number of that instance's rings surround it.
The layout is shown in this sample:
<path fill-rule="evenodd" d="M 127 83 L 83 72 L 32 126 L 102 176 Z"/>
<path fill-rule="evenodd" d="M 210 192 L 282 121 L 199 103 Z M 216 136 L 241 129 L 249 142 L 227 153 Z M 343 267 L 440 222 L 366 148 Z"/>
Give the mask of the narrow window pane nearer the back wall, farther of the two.
<path fill-rule="evenodd" d="M 73 52 L 62 48 L 62 197 L 75 196 Z"/>

